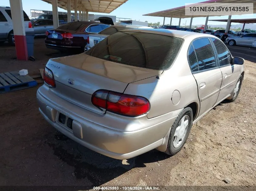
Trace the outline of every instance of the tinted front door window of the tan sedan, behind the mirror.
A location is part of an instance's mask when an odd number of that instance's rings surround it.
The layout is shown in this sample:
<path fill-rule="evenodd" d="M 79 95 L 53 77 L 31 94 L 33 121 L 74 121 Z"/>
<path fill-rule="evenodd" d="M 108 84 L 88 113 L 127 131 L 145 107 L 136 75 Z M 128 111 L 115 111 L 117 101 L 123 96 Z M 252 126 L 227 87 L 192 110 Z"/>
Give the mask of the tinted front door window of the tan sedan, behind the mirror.
<path fill-rule="evenodd" d="M 229 65 L 231 61 L 231 56 L 226 46 L 220 40 L 214 38 L 211 38 L 211 40 L 213 41 L 214 46 L 216 47 L 220 66 Z"/>

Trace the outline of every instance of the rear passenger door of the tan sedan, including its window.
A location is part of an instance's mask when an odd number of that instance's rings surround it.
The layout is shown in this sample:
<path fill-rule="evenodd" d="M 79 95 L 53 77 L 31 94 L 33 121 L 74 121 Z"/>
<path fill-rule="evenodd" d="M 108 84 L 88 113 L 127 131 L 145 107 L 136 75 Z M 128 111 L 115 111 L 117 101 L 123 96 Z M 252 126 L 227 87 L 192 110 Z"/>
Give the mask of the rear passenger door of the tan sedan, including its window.
<path fill-rule="evenodd" d="M 222 74 L 209 38 L 194 40 L 190 46 L 189 55 L 189 58 L 196 58 L 193 62 L 189 59 L 189 63 L 198 85 L 200 100 L 198 116 L 201 116 L 216 103 L 221 88 Z"/>

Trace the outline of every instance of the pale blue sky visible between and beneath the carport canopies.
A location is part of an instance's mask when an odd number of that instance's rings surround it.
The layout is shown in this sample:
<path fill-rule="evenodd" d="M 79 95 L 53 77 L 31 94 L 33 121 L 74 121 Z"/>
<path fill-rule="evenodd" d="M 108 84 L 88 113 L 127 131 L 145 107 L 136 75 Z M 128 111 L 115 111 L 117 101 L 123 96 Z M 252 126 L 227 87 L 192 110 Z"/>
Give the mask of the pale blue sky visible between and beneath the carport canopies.
<path fill-rule="evenodd" d="M 106 15 L 115 15 L 119 18 L 131 18 L 132 20 L 137 21 L 148 21 L 149 23 L 160 22 L 163 24 L 163 17 L 152 17 L 152 16 L 142 16 L 143 14 L 163 11 L 170 8 L 184 6 L 185 3 L 197 3 L 202 2 L 203 0 L 128 0 L 126 3 L 121 5 L 116 10 L 112 11 L 110 14 Z M 0 6 L 10 6 L 9 0 L 1 0 Z M 30 15 L 30 9 L 37 10 L 52 10 L 52 5 L 41 0 L 22 0 L 23 10 Z M 58 8 L 58 11 L 66 11 L 64 9 Z M 73 11 L 72 11 L 73 12 Z M 89 12 L 89 14 L 97 14 Z M 98 13 L 103 14 L 103 13 Z M 256 14 L 247 14 L 247 15 L 232 15 L 232 19 L 239 18 L 256 18 Z M 228 16 L 215 16 L 209 17 L 210 19 L 228 19 Z M 178 25 L 179 19 L 173 18 L 172 25 Z M 181 19 L 181 25 L 189 25 L 190 18 Z M 170 18 L 165 18 L 165 24 L 170 24 Z M 205 24 L 205 18 L 193 18 L 192 25 L 196 24 Z M 226 24 L 225 22 L 217 21 L 208 21 L 208 25 L 211 24 Z M 235 24 L 235 23 L 234 23 Z"/>

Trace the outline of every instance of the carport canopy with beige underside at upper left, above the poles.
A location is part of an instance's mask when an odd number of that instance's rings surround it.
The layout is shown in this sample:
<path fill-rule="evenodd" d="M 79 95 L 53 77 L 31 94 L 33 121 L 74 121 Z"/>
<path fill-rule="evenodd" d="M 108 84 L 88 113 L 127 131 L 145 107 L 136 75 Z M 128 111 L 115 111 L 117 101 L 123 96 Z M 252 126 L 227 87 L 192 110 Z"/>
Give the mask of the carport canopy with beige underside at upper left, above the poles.
<path fill-rule="evenodd" d="M 52 4 L 52 0 L 42 0 Z M 78 6 L 84 6 L 89 12 L 111 13 L 128 0 L 77 0 Z M 67 0 L 58 0 L 58 7 L 67 10 Z M 75 11 L 75 3 L 71 0 L 71 11 Z"/>

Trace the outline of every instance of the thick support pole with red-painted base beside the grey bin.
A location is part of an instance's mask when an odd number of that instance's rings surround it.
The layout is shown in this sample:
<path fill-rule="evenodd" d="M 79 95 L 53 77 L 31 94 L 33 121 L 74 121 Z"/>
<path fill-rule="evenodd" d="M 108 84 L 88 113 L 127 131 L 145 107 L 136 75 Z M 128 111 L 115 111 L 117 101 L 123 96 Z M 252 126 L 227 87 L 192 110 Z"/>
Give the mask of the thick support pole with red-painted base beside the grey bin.
<path fill-rule="evenodd" d="M 10 0 L 10 7 L 17 60 L 28 60 L 22 0 Z"/>

